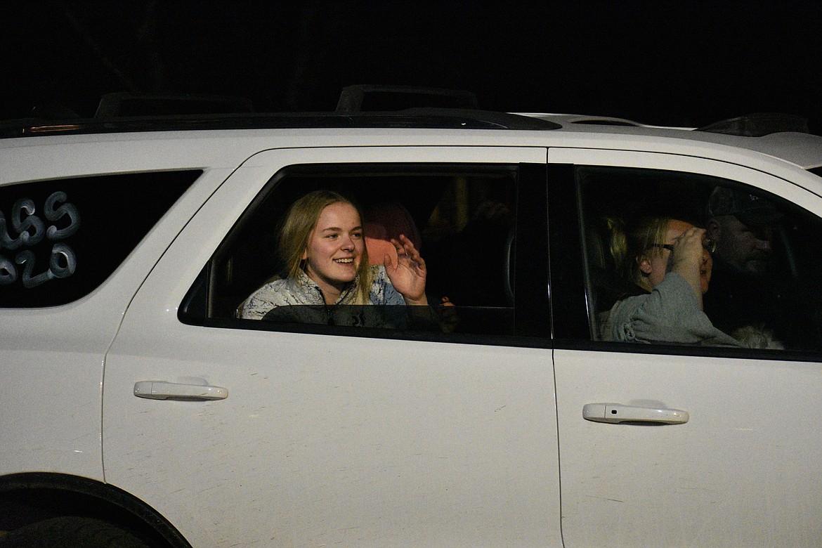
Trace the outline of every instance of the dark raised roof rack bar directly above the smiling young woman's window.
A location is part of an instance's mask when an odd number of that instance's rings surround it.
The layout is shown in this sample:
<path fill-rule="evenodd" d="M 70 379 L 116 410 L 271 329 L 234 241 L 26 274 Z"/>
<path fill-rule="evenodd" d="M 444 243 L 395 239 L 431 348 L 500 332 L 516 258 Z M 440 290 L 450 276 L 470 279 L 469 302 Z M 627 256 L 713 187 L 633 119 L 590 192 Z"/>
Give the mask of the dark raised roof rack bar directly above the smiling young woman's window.
<path fill-rule="evenodd" d="M 386 112 L 416 107 L 476 109 L 477 95 L 470 91 L 409 85 L 358 84 L 343 88 L 337 113 Z"/>

